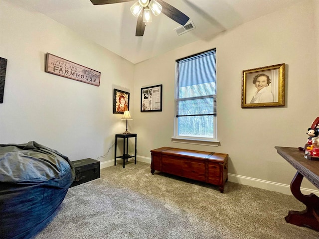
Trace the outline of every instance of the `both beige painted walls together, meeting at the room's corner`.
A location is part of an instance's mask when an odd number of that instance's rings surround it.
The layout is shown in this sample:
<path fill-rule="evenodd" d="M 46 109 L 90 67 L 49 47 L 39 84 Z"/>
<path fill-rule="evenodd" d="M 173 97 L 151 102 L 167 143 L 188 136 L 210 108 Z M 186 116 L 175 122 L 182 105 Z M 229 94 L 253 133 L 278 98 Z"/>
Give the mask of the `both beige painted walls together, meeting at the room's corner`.
<path fill-rule="evenodd" d="M 318 1 L 280 9 L 137 65 L 42 14 L 9 1 L 0 1 L 0 10 L 0 56 L 8 59 L 0 143 L 35 140 L 71 160 L 104 155 L 114 134 L 125 129 L 112 110 L 116 88 L 131 93 L 129 130 L 138 133 L 139 160 L 149 161 L 150 150 L 161 146 L 228 153 L 230 181 L 289 192 L 295 170 L 274 146 L 303 146 L 318 117 Z M 173 143 L 175 60 L 212 48 L 221 145 Z M 45 73 L 46 52 L 100 71 L 100 87 Z M 241 71 L 280 63 L 286 63 L 286 106 L 242 109 Z M 162 112 L 141 113 L 141 88 L 158 84 Z M 100 160 L 112 165 L 113 156 L 114 148 Z M 315 189 L 309 182 L 303 187 Z"/>

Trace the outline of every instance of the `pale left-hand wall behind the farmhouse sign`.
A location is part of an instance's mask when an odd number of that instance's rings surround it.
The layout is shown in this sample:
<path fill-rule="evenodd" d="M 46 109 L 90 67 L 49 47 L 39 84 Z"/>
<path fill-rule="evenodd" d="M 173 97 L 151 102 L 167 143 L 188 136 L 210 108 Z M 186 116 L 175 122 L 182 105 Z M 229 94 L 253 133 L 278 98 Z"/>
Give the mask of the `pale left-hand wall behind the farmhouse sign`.
<path fill-rule="evenodd" d="M 125 130 L 122 115 L 113 114 L 113 89 L 133 89 L 134 65 L 42 14 L 7 1 L 0 10 L 7 59 L 0 143 L 34 140 L 71 160 L 104 155 Z M 44 72 L 46 52 L 101 72 L 100 86 Z"/>

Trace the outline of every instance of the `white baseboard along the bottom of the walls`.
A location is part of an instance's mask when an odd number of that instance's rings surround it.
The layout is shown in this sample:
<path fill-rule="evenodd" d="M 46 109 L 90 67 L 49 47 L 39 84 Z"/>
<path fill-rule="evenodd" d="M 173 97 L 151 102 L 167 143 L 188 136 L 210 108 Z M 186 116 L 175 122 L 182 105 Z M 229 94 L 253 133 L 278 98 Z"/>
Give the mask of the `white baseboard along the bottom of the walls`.
<path fill-rule="evenodd" d="M 138 155 L 137 161 L 151 164 L 152 159 L 149 157 Z M 106 168 L 113 165 L 114 165 L 114 160 L 101 162 L 101 168 Z M 228 181 L 243 184 L 243 185 L 248 185 L 248 186 L 252 186 L 256 188 L 266 189 L 266 190 L 270 190 L 274 192 L 279 192 L 283 194 L 292 195 L 290 191 L 290 185 L 288 184 L 276 183 L 276 182 L 266 181 L 266 180 L 257 179 L 257 178 L 250 178 L 250 177 L 236 175 L 232 173 L 228 173 Z M 305 195 L 309 195 L 311 193 L 319 195 L 319 190 L 313 190 L 309 188 L 301 188 L 301 192 Z"/>

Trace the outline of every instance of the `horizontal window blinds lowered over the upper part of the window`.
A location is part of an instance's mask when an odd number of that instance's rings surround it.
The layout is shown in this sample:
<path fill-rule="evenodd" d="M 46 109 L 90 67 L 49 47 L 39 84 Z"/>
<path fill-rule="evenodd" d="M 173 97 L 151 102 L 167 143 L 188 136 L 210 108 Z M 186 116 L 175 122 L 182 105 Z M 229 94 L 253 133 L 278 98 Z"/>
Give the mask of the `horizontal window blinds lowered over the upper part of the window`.
<path fill-rule="evenodd" d="M 216 116 L 216 49 L 176 62 L 176 117 Z"/>

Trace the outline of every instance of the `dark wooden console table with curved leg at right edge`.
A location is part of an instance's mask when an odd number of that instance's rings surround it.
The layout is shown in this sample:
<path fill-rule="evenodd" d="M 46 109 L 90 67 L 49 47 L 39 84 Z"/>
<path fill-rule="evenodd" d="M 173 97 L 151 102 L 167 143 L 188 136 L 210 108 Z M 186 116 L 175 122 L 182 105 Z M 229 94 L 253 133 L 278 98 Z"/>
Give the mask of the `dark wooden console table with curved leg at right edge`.
<path fill-rule="evenodd" d="M 305 158 L 304 151 L 300 151 L 298 148 L 278 146 L 275 148 L 284 159 L 297 169 L 297 173 L 290 184 L 290 189 L 295 198 L 307 207 L 302 212 L 289 211 L 288 216 L 285 217 L 286 222 L 319 231 L 319 197 L 313 193 L 304 195 L 300 191 L 300 185 L 304 177 L 319 188 L 319 161 Z"/>

